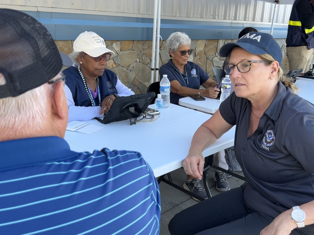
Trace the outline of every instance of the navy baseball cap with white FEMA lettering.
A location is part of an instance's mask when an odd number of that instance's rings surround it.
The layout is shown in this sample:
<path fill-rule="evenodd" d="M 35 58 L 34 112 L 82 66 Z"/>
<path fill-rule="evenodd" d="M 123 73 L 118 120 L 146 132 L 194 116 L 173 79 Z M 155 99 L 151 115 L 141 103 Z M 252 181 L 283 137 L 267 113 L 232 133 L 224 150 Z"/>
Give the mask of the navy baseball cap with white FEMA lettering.
<path fill-rule="evenodd" d="M 247 33 L 236 42 L 230 42 L 223 45 L 219 50 L 219 55 L 221 57 L 227 57 L 235 46 L 239 46 L 253 55 L 269 54 L 273 56 L 273 58 L 278 61 L 279 66 L 281 66 L 281 48 L 270 34 L 261 32 Z"/>

